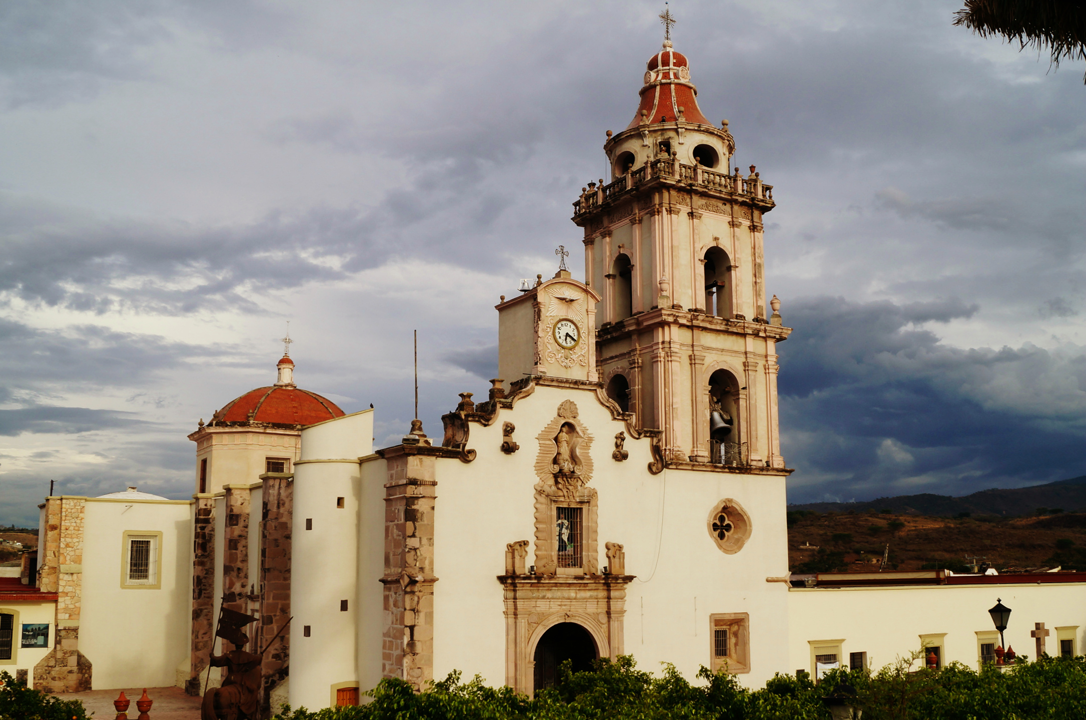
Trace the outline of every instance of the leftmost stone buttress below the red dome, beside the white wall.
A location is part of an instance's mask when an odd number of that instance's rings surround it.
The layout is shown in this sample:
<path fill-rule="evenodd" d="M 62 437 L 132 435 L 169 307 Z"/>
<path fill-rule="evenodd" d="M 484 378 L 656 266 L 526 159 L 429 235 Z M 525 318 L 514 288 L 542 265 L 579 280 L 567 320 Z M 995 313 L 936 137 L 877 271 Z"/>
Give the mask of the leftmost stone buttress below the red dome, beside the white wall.
<path fill-rule="evenodd" d="M 192 531 L 192 660 L 185 692 L 201 694 L 215 632 L 215 499 L 197 497 Z"/>

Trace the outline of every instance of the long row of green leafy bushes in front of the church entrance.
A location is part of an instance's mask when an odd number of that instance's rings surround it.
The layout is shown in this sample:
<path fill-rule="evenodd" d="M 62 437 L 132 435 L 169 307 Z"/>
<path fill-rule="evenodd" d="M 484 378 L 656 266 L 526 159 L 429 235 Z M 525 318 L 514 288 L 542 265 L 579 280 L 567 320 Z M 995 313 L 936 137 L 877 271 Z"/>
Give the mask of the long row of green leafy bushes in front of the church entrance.
<path fill-rule="evenodd" d="M 824 720 L 823 696 L 841 684 L 856 689 L 864 720 L 1025 720 L 1086 717 L 1086 658 L 1043 657 L 976 672 L 960 664 L 922 668 L 921 651 L 877 672 L 832 670 L 820 684 L 806 674 L 778 674 L 759 690 L 734 676 L 698 672 L 687 682 L 666 665 L 660 677 L 633 658 L 601 660 L 593 672 L 563 668 L 557 686 L 534 699 L 508 687 L 487 687 L 460 673 L 415 693 L 402 680 L 382 680 L 368 705 L 310 712 L 283 707 L 274 720 Z"/>

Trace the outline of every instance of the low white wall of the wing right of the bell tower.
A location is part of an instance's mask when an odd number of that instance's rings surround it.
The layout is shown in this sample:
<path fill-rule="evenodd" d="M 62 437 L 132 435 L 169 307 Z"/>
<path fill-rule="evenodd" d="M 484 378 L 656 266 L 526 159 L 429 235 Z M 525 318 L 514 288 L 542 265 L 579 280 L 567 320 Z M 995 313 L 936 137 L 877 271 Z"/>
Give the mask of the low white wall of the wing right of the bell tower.
<path fill-rule="evenodd" d="M 1078 626 L 1076 652 L 1086 642 L 1086 583 L 930 586 L 899 588 L 796 588 L 788 591 L 788 672 L 813 672 L 810 642 L 844 640 L 842 663 L 849 653 L 868 654 L 877 669 L 920 650 L 921 634 L 946 633 L 943 661 L 977 669 L 976 633 L 995 628 L 988 608 L 1001 597 L 1011 608 L 1003 633 L 1020 655 L 1035 656 L 1030 631 L 1044 622 L 1051 631 L 1049 655 L 1059 654 L 1056 628 Z"/>

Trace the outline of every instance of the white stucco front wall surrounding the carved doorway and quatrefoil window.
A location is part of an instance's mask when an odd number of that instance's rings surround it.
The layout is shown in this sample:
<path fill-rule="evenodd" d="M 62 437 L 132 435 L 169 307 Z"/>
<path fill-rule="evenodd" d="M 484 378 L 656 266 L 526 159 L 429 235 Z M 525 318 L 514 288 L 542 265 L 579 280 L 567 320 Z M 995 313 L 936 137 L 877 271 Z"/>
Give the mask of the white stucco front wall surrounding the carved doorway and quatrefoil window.
<path fill-rule="evenodd" d="M 503 410 L 490 427 L 471 425 L 472 463 L 438 461 L 434 574 L 434 678 L 459 669 L 465 677 L 505 682 L 502 586 L 506 543 L 530 540 L 534 549 L 533 468 L 536 435 L 558 404 L 572 399 L 594 440 L 591 486 L 598 491 L 599 565 L 604 543 L 624 545 L 627 586 L 624 651 L 645 670 L 673 663 L 693 679 L 710 664 L 709 614 L 749 613 L 752 671 L 744 684 L 760 685 L 787 664 L 787 588 L 766 582 L 787 573 L 784 478 L 669 470 L 652 475 L 649 442 L 630 440 L 629 460 L 611 459 L 611 420 L 593 391 L 539 387 Z M 513 422 L 520 449 L 498 450 L 502 423 Z M 742 504 L 753 532 L 738 553 L 718 550 L 706 527 L 724 498 Z M 532 551 L 528 564 L 534 563 Z M 696 603 L 696 609 L 695 609 Z"/>

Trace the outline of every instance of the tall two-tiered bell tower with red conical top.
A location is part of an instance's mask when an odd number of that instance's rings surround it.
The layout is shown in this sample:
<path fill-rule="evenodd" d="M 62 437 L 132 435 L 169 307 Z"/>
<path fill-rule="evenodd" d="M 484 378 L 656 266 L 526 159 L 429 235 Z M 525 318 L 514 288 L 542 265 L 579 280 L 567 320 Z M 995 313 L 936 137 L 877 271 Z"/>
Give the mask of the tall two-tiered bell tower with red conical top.
<path fill-rule="evenodd" d="M 662 17 L 662 16 L 661 16 Z M 598 378 L 639 427 L 662 430 L 669 463 L 783 468 L 775 344 L 767 317 L 762 216 L 773 189 L 730 170 L 735 141 L 697 105 L 668 37 L 648 60 L 633 120 L 607 131 L 610 181 L 573 203 L 596 311 Z"/>

